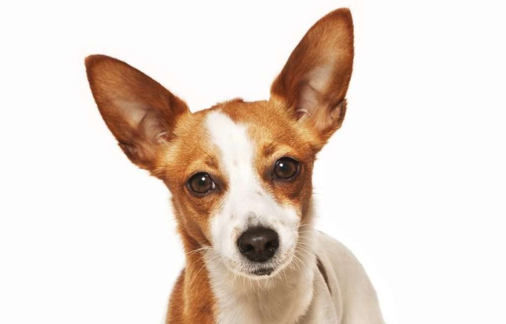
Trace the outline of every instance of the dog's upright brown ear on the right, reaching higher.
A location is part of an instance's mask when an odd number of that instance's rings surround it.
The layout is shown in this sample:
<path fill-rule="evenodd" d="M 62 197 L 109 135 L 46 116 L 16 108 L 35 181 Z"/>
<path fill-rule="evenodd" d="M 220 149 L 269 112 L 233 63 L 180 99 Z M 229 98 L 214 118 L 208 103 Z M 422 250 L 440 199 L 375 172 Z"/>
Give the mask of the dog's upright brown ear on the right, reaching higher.
<path fill-rule="evenodd" d="M 271 99 L 309 124 L 323 145 L 343 123 L 352 66 L 353 21 L 342 8 L 309 29 L 274 80 Z"/>

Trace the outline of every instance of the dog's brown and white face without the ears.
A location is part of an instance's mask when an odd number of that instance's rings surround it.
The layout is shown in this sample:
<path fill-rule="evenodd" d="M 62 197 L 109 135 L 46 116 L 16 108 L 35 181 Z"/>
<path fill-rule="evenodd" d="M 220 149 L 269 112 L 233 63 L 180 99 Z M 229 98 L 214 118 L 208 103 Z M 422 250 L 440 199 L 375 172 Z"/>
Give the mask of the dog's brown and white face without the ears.
<path fill-rule="evenodd" d="M 316 138 L 281 106 L 241 100 L 188 115 L 176 133 L 157 175 L 197 231 L 192 236 L 209 241 L 238 273 L 288 263 L 307 215 Z"/>

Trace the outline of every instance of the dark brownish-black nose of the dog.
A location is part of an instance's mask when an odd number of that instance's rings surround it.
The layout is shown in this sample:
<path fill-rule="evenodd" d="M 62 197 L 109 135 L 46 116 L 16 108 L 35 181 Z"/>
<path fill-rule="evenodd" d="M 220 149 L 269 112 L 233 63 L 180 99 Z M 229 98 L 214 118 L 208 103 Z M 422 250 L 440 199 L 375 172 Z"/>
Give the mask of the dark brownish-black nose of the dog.
<path fill-rule="evenodd" d="M 247 229 L 237 239 L 239 251 L 249 260 L 257 262 L 272 258 L 278 245 L 278 234 L 262 226 Z"/>

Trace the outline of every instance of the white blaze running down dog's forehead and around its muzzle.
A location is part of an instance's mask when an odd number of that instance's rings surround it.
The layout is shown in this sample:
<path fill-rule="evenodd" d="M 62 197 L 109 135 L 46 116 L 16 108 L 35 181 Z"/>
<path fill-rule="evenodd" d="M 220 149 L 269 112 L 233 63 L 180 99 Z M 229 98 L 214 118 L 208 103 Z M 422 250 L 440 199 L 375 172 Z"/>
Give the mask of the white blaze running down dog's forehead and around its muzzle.
<path fill-rule="evenodd" d="M 278 233 L 280 253 L 297 239 L 293 234 L 299 218 L 293 208 L 282 206 L 261 185 L 255 170 L 255 145 L 247 125 L 235 123 L 226 114 L 213 111 L 206 117 L 212 145 L 220 152 L 220 166 L 227 179 L 227 192 L 216 215 L 210 215 L 212 243 L 230 261 L 239 261 L 237 236 L 248 225 L 263 225 Z M 251 222 L 252 224 L 249 224 Z M 286 252 L 286 251 L 284 251 Z"/>

